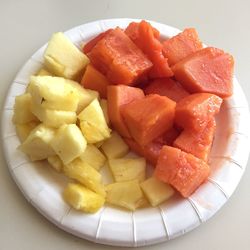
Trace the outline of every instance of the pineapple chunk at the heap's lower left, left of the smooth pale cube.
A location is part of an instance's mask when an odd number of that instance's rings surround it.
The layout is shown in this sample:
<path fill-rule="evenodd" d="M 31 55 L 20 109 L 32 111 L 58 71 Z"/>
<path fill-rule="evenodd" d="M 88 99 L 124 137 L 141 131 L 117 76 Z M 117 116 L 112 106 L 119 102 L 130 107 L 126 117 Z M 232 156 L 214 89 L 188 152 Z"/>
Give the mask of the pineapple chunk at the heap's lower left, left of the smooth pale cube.
<path fill-rule="evenodd" d="M 40 124 L 31 131 L 27 139 L 19 146 L 19 149 L 30 156 L 33 161 L 46 159 L 55 155 L 53 148 L 50 146 L 54 136 L 54 129 Z"/>

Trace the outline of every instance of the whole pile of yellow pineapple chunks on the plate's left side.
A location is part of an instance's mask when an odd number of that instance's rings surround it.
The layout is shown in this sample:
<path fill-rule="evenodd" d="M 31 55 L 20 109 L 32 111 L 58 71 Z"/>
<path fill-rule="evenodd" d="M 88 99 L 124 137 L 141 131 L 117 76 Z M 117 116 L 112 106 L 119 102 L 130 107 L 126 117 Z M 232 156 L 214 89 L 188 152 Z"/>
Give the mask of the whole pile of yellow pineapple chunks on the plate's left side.
<path fill-rule="evenodd" d="M 145 159 L 128 156 L 127 144 L 108 127 L 107 100 L 75 81 L 88 58 L 56 33 L 44 60 L 46 69 L 31 76 L 26 92 L 15 99 L 19 149 L 71 179 L 63 196 L 77 210 L 94 213 L 105 202 L 135 210 L 167 200 L 173 189 L 146 179 Z M 106 162 L 114 182 L 105 186 L 99 170 Z"/>

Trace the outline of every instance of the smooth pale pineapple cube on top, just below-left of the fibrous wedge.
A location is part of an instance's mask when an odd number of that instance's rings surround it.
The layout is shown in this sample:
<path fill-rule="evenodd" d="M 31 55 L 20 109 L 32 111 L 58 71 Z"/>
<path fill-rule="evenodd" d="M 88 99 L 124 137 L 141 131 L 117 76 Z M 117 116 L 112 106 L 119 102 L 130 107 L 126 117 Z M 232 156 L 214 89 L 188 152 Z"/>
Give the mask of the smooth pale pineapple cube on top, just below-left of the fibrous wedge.
<path fill-rule="evenodd" d="M 86 145 L 84 136 L 75 124 L 62 125 L 51 141 L 52 148 L 64 164 L 79 157 Z"/>

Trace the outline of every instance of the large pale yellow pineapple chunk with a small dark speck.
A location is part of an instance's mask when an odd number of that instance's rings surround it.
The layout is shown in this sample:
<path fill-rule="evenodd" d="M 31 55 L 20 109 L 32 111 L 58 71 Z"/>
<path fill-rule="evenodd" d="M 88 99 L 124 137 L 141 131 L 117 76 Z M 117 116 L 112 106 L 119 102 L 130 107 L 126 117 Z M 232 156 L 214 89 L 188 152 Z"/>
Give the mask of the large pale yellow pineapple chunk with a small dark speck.
<path fill-rule="evenodd" d="M 31 76 L 29 91 L 32 101 L 46 109 L 77 110 L 79 94 L 64 78 Z"/>

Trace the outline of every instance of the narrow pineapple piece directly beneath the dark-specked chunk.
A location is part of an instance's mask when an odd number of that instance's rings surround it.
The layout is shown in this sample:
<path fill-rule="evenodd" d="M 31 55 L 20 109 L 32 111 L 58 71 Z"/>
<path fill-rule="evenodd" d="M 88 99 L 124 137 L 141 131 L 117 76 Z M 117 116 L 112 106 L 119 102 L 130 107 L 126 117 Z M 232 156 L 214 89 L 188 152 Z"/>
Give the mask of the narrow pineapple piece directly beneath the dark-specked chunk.
<path fill-rule="evenodd" d="M 76 112 L 45 109 L 41 105 L 33 103 L 31 105 L 32 113 L 45 125 L 53 128 L 59 128 L 64 124 L 76 123 Z"/>

